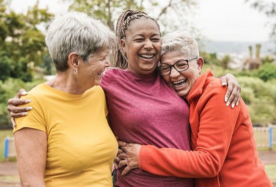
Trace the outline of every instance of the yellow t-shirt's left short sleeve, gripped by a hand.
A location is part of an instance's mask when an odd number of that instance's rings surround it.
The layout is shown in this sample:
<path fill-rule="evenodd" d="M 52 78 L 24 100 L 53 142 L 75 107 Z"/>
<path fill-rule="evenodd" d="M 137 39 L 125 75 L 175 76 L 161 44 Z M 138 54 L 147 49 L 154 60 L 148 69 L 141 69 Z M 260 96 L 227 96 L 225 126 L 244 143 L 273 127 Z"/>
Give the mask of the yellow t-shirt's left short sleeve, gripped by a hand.
<path fill-rule="evenodd" d="M 33 109 L 28 111 L 28 115 L 16 118 L 17 126 L 14 127 L 14 133 L 24 127 L 35 128 L 46 132 L 45 116 L 39 99 L 32 94 L 24 95 L 21 98 L 31 99 L 32 102 L 20 106 L 32 106 Z"/>

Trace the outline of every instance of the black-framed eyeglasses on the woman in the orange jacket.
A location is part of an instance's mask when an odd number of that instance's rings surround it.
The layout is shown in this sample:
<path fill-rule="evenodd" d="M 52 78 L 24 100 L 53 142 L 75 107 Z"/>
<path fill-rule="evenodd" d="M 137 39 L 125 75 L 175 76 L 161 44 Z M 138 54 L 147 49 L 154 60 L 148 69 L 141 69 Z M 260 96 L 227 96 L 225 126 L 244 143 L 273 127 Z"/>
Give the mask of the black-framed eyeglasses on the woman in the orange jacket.
<path fill-rule="evenodd" d="M 194 57 L 192 59 L 180 59 L 178 60 L 177 62 L 175 62 L 174 64 L 172 65 L 160 65 L 158 67 L 158 70 L 160 72 L 160 74 L 162 76 L 166 76 L 168 74 L 171 74 L 171 71 L 172 71 L 172 66 L 178 71 L 178 72 L 181 72 L 181 71 L 185 71 L 189 68 L 189 61 L 193 60 L 193 59 L 196 59 L 198 57 Z"/>

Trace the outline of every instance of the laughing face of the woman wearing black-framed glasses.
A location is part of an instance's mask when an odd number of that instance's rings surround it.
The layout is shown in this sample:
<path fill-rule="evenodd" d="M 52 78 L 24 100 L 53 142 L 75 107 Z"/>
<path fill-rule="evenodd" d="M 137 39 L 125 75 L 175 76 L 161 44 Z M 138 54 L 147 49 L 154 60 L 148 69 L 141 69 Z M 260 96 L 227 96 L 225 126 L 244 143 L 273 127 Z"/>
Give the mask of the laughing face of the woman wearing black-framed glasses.
<path fill-rule="evenodd" d="M 192 59 L 196 56 L 184 55 L 181 51 L 166 52 L 161 56 L 161 65 L 172 65 L 181 59 Z M 189 62 L 189 68 L 185 71 L 178 72 L 174 67 L 171 67 L 171 74 L 163 76 L 165 81 L 170 84 L 177 94 L 182 98 L 186 98 L 191 88 L 200 76 L 203 67 L 203 58 L 199 57 Z"/>

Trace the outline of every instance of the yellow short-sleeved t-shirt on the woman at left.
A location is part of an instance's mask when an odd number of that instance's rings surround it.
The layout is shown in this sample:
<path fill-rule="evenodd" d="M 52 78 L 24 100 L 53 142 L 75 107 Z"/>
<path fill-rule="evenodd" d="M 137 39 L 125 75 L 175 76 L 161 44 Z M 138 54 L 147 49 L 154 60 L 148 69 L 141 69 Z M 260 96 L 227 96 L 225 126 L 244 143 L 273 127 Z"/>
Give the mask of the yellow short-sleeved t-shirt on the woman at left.
<path fill-rule="evenodd" d="M 17 127 L 45 131 L 48 138 L 46 186 L 112 186 L 118 144 L 108 126 L 100 86 L 70 94 L 42 83 L 22 98 L 33 109 L 16 118 Z"/>

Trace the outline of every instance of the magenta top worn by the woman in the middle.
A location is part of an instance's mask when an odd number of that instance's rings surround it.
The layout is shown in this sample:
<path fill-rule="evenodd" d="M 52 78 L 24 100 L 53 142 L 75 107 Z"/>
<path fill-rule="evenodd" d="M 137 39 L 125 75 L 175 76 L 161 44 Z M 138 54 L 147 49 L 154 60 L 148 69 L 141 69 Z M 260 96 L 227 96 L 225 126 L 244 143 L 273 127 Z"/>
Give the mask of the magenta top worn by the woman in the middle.
<path fill-rule="evenodd" d="M 190 150 L 189 107 L 158 73 L 143 76 L 108 69 L 101 86 L 119 139 Z M 117 186 L 193 186 L 192 178 L 159 176 L 139 168 L 122 176 L 122 170 L 117 172 Z"/>

